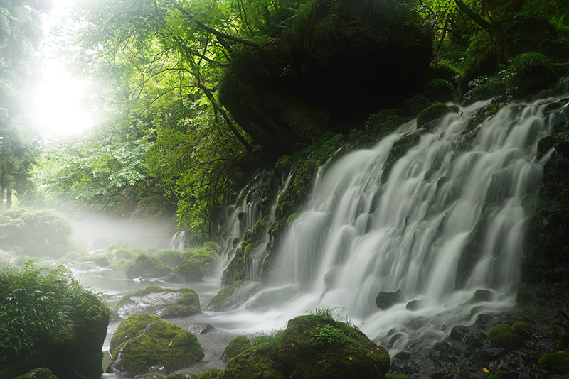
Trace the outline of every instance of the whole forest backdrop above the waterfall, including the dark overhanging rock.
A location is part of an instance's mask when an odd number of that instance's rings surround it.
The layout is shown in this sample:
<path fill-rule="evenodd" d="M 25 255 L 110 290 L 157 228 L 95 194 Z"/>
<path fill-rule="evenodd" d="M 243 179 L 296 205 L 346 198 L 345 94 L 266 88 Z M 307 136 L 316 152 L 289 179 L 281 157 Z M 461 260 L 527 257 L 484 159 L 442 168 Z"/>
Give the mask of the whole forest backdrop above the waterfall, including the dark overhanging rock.
<path fill-rule="evenodd" d="M 565 1 L 80 0 L 60 26 L 60 53 L 90 78 L 102 121 L 42 141 L 28 115 L 49 9 L 0 6 L 2 207 L 17 198 L 141 219 L 175 213 L 196 241 L 215 238 L 224 205 L 259 167 L 303 159 L 372 114 L 385 127 L 369 138 L 438 101 L 523 98 L 568 73 Z M 359 55 L 346 50 L 388 22 L 402 32 L 381 35 L 385 45 L 415 51 L 403 74 L 382 63 L 403 50 L 373 55 L 377 37 Z"/>

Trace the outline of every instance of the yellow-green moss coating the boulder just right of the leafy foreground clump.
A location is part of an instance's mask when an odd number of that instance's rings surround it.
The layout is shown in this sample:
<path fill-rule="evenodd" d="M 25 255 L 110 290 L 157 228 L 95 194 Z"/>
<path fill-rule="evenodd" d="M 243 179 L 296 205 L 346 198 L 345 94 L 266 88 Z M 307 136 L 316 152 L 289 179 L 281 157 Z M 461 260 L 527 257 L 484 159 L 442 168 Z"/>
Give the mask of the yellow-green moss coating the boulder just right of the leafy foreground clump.
<path fill-rule="evenodd" d="M 201 345 L 193 333 L 159 319 L 144 326 L 134 338 L 113 350 L 110 368 L 127 375 L 142 375 L 153 366 L 160 365 L 166 373 L 171 373 L 200 361 L 203 356 Z"/>

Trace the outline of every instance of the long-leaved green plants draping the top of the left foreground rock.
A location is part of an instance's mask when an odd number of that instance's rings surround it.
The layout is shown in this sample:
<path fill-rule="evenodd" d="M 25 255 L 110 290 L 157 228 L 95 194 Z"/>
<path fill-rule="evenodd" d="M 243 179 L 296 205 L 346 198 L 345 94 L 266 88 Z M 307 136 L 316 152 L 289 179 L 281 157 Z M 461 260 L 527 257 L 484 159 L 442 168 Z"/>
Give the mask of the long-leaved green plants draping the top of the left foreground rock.
<path fill-rule="evenodd" d="M 73 339 L 82 319 L 108 317 L 102 295 L 79 284 L 62 265 L 46 271 L 28 262 L 0 270 L 0 360 L 41 355 Z"/>

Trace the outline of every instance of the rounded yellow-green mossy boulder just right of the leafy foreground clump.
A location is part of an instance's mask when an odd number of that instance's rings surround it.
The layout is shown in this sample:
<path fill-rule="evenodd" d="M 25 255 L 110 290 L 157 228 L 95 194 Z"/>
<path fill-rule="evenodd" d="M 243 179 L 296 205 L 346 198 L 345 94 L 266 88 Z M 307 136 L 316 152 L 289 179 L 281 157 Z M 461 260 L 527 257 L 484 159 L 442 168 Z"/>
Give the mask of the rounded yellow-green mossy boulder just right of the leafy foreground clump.
<path fill-rule="evenodd" d="M 119 324 L 117 333 L 119 336 L 115 344 L 122 342 L 113 348 L 107 368 L 109 373 L 122 376 L 168 375 L 200 361 L 204 356 L 195 334 L 151 314 L 128 317 Z"/>

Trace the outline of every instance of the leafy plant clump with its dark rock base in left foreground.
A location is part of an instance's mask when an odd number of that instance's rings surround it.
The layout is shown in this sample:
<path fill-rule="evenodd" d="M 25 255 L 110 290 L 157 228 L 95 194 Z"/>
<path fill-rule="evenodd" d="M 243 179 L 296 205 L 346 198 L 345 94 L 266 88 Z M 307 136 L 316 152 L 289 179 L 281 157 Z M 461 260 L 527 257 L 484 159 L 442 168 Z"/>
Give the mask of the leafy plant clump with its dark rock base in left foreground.
<path fill-rule="evenodd" d="M 100 370 L 92 350 L 101 352 L 108 321 L 100 295 L 80 285 L 65 267 L 46 271 L 27 263 L 23 268 L 2 268 L 0 377 L 13 378 L 38 367 L 56 375 L 74 366 L 89 370 L 92 361 Z M 97 342 L 100 345 L 93 347 Z M 73 351 L 73 358 L 65 351 Z"/>

